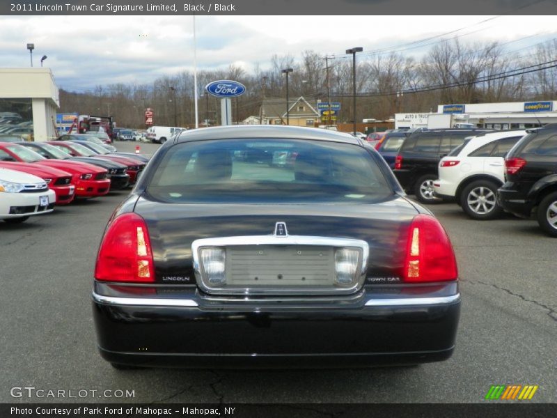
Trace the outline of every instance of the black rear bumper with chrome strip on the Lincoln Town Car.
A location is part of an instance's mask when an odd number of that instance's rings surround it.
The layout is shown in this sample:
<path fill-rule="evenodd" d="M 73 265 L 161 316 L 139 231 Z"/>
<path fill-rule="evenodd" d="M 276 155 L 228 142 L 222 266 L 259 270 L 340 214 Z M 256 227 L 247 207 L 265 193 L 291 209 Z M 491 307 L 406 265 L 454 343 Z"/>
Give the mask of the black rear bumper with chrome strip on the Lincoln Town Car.
<path fill-rule="evenodd" d="M 207 300 L 180 291 L 123 294 L 95 283 L 98 346 L 109 362 L 140 366 L 290 368 L 436 362 L 453 353 L 460 316 L 455 282 L 435 293 L 404 297 L 400 292 L 362 291 L 351 300 L 314 301 L 307 306 L 299 300 L 285 304 Z"/>

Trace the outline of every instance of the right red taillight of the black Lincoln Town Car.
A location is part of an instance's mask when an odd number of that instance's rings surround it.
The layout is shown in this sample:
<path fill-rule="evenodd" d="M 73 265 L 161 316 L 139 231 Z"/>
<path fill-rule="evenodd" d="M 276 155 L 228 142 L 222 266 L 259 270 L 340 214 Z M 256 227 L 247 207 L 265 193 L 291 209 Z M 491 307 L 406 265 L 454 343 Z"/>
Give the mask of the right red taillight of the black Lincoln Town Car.
<path fill-rule="evenodd" d="M 405 281 L 423 283 L 457 279 L 453 245 L 434 217 L 418 215 L 412 220 L 406 251 Z"/>

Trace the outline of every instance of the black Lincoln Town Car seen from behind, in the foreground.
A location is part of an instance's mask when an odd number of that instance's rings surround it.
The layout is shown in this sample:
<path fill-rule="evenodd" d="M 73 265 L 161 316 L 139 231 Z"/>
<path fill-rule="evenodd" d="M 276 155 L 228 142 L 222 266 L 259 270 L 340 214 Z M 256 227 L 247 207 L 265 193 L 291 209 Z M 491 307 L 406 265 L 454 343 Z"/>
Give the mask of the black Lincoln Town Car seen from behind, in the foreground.
<path fill-rule="evenodd" d="M 457 277 L 365 141 L 214 127 L 159 148 L 113 213 L 93 316 L 117 369 L 418 364 L 453 353 Z"/>

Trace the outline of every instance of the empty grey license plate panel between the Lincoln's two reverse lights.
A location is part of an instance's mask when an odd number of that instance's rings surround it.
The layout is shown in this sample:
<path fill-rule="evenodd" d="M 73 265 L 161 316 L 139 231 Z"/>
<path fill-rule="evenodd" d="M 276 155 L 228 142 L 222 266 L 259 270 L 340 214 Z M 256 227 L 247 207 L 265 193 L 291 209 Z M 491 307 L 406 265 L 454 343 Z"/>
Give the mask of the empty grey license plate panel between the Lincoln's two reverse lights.
<path fill-rule="evenodd" d="M 226 248 L 226 283 L 242 287 L 333 287 L 334 248 L 253 245 Z"/>

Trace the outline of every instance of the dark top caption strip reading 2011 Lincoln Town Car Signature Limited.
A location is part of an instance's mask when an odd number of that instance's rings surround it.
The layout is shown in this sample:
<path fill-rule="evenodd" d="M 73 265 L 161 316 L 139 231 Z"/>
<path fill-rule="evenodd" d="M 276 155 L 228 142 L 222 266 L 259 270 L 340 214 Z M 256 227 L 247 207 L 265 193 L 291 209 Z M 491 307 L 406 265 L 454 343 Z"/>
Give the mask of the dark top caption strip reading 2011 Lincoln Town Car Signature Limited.
<path fill-rule="evenodd" d="M 28 0 L 0 2 L 0 15 L 557 15 L 532 0 Z M 370 21 L 370 24 L 372 21 Z"/>

